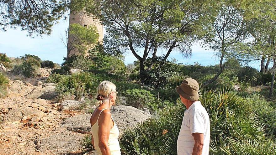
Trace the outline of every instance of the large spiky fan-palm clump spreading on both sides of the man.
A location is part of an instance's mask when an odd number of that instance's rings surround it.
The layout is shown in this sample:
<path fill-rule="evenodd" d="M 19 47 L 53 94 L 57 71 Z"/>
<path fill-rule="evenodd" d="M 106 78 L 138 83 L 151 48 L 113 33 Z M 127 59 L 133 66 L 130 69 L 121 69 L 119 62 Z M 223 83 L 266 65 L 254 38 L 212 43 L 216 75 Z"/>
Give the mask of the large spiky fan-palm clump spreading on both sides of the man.
<path fill-rule="evenodd" d="M 228 148 L 231 154 L 236 154 L 230 139 L 241 142 L 251 139 L 265 144 L 263 126 L 250 105 L 235 92 L 202 90 L 200 101 L 210 115 L 211 155 L 226 154 Z M 122 154 L 177 154 L 177 138 L 185 109 L 183 104 L 164 108 L 156 117 L 125 130 L 119 138 Z"/>

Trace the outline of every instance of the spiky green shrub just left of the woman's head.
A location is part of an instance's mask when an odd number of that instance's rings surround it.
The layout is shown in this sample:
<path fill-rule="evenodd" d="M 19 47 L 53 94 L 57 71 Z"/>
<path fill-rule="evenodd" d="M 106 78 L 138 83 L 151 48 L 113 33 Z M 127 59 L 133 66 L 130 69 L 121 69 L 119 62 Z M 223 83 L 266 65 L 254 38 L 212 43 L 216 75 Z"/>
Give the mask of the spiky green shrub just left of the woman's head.
<path fill-rule="evenodd" d="M 93 94 L 96 90 L 98 83 L 95 83 L 95 78 L 89 73 L 75 73 L 61 77 L 56 85 L 56 92 L 58 99 L 62 99 L 64 95 L 70 96 L 70 94 L 79 100 L 82 96 L 88 97 L 89 94 Z"/>

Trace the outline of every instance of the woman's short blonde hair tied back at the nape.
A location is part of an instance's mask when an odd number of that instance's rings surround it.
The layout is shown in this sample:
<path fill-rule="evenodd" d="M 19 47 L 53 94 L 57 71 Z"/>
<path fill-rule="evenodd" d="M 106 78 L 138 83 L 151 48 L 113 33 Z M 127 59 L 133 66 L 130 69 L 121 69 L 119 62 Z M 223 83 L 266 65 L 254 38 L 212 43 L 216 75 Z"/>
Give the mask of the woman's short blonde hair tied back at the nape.
<path fill-rule="evenodd" d="M 104 97 L 104 100 L 100 100 L 99 104 L 109 99 L 110 94 L 116 90 L 116 85 L 110 81 L 103 81 L 98 85 L 97 95 Z"/>

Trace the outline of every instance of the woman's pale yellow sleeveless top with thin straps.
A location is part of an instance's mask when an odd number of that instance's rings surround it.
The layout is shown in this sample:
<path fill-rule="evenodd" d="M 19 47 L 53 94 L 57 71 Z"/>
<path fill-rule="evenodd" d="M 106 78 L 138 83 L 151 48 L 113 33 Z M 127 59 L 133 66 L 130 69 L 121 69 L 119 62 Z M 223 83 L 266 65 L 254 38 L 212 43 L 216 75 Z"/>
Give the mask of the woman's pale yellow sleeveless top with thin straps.
<path fill-rule="evenodd" d="M 101 110 L 101 112 L 98 116 L 98 119 L 99 119 L 102 111 L 104 111 L 104 110 L 105 109 Z M 92 131 L 93 140 L 94 140 L 95 155 L 102 155 L 101 149 L 99 148 L 98 119 L 97 119 L 96 123 L 91 127 L 91 131 Z M 111 116 L 111 119 L 114 122 L 112 116 Z M 119 137 L 119 129 L 114 122 L 114 127 L 110 129 L 109 139 L 108 139 L 108 147 L 111 152 L 111 155 L 121 155 L 121 151 L 120 151 L 121 148 L 119 145 L 118 137 Z"/>

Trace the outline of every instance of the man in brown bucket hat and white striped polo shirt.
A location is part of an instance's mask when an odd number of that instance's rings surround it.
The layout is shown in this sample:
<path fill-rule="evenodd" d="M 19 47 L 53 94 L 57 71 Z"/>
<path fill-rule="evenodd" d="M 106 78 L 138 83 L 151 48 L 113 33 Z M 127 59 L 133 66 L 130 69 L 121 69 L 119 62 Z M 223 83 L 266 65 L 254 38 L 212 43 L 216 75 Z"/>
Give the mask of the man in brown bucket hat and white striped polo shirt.
<path fill-rule="evenodd" d="M 210 143 L 210 119 L 199 99 L 199 84 L 185 79 L 176 87 L 181 102 L 186 106 L 177 140 L 178 155 L 208 155 Z"/>

